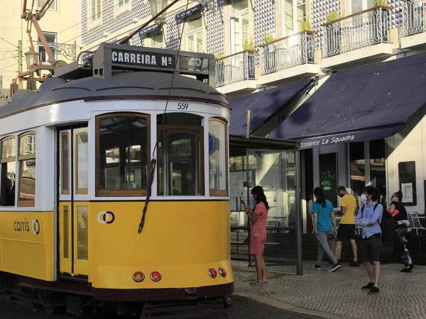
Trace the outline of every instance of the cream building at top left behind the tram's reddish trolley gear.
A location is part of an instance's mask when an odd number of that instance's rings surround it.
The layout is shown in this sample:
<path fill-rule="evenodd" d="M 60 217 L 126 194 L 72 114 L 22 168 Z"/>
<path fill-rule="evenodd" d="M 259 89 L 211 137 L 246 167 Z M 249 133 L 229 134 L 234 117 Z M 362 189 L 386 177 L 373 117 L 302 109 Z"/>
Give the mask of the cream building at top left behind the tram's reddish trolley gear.
<path fill-rule="evenodd" d="M 26 9 L 32 13 L 41 9 L 45 0 L 35 0 L 31 8 L 28 1 Z M 4 94 L 9 94 L 13 79 L 17 79 L 20 72 L 26 72 L 27 63 L 25 53 L 31 50 L 30 38 L 27 33 L 27 22 L 21 19 L 23 1 L 1 1 L 0 4 L 0 76 L 1 89 Z M 55 0 L 45 16 L 38 21 L 45 35 L 55 60 L 65 63 L 75 61 L 80 52 L 80 3 L 79 1 Z M 31 27 L 31 38 L 38 60 L 42 65 L 50 65 L 49 57 L 38 37 L 34 26 Z M 22 41 L 22 65 L 18 61 L 19 44 Z M 31 62 L 33 62 L 31 60 Z M 48 74 L 43 70 L 39 76 Z M 21 88 L 26 88 L 25 82 Z"/>

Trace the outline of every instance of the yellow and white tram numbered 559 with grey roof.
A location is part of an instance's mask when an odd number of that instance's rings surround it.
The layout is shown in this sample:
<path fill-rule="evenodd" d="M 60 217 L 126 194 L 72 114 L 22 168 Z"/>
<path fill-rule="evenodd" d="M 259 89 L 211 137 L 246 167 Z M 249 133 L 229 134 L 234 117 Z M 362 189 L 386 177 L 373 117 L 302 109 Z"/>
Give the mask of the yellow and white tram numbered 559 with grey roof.
<path fill-rule="evenodd" d="M 0 106 L 1 289 L 75 314 L 232 293 L 214 57 L 103 43 L 88 61 Z"/>

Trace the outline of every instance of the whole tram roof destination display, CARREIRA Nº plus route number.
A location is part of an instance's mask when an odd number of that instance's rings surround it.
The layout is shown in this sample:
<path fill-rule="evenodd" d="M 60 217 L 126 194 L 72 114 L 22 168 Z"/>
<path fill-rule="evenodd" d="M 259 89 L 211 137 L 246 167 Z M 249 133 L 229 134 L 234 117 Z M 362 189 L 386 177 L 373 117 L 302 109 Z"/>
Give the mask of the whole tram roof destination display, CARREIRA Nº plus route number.
<path fill-rule="evenodd" d="M 117 66 L 160 68 L 173 71 L 176 55 L 163 52 L 111 49 L 111 62 Z M 179 56 L 178 71 L 209 74 L 209 59 Z"/>

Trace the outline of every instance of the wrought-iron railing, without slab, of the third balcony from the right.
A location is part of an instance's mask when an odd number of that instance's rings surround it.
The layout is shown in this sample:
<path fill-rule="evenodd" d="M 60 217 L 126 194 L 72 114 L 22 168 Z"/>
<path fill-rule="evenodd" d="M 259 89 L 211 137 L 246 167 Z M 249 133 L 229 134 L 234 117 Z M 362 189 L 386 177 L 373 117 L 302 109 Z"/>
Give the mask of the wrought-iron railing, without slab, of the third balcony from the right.
<path fill-rule="evenodd" d="M 315 63 L 315 33 L 303 31 L 262 45 L 259 48 L 261 75 Z"/>

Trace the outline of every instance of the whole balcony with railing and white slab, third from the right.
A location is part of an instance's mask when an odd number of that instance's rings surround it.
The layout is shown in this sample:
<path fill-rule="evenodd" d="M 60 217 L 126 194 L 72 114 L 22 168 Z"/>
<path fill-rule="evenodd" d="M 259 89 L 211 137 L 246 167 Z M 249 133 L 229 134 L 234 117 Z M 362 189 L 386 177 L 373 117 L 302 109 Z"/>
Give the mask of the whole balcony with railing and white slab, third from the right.
<path fill-rule="evenodd" d="M 303 31 L 262 45 L 258 84 L 278 84 L 281 80 L 317 74 L 315 35 L 314 31 Z"/>

